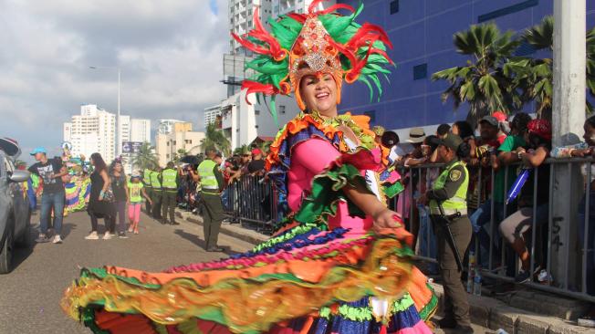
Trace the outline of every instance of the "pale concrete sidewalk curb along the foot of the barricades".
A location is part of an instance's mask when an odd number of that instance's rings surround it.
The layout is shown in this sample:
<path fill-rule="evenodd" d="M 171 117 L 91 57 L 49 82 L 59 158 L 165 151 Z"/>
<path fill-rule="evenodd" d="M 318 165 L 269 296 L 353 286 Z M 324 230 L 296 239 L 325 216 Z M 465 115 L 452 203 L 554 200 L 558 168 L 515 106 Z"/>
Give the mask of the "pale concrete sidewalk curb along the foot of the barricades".
<path fill-rule="evenodd" d="M 175 214 L 187 222 L 203 225 L 203 219 L 198 215 L 177 209 Z M 223 224 L 221 233 L 253 245 L 260 244 L 269 238 L 267 235 L 245 229 L 239 224 Z M 438 311 L 441 312 L 444 309 L 444 288 L 436 283 L 431 285 L 440 299 Z M 513 308 L 496 298 L 474 295 L 467 295 L 467 297 L 471 321 L 487 329 L 504 329 L 509 334 L 595 334 L 595 329 L 579 327 L 560 318 L 541 316 L 538 313 Z"/>

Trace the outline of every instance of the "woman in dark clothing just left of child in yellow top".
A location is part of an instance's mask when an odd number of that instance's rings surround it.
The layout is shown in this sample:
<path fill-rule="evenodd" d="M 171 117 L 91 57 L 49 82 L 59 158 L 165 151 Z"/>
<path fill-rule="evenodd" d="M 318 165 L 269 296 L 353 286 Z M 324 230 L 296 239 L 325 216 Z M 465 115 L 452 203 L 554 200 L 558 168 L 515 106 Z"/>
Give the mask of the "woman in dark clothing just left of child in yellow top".
<path fill-rule="evenodd" d="M 118 237 L 125 239 L 126 236 L 126 204 L 129 202 L 128 198 L 128 180 L 124 173 L 124 167 L 120 159 L 111 162 L 110 166 L 110 183 L 111 190 L 114 193 L 114 210 L 112 226 L 116 224 L 116 216 L 118 216 Z"/>

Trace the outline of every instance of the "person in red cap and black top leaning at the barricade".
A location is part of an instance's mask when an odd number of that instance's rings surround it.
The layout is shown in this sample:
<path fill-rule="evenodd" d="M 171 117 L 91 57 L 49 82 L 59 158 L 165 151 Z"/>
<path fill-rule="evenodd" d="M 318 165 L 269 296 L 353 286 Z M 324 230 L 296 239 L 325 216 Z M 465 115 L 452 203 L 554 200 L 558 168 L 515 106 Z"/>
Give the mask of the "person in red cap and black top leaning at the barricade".
<path fill-rule="evenodd" d="M 531 120 L 527 124 L 525 141 L 527 147 L 521 147 L 517 150 L 518 159 L 524 162 L 528 168 L 534 168 L 534 170 L 531 171 L 527 182 L 519 193 L 518 211 L 509 215 L 500 224 L 500 232 L 517 252 L 522 263 L 522 270 L 515 277 L 517 283 L 527 282 L 531 278 L 529 267 L 531 256 L 523 234 L 533 224 L 533 196 L 536 173 L 538 178 L 536 223 L 548 224 L 549 165 L 543 163 L 548 158 L 549 151 L 551 151 L 551 125 L 548 120 Z"/>

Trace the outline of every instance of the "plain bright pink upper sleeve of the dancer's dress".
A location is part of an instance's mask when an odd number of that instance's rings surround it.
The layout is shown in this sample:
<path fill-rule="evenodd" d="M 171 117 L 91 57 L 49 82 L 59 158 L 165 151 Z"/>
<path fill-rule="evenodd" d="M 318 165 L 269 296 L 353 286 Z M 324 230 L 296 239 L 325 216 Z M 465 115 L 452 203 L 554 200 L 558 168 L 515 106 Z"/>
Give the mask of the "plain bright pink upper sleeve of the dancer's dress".
<path fill-rule="evenodd" d="M 318 174 L 339 156 L 339 150 L 329 141 L 313 138 L 298 143 L 291 153 L 291 160 L 299 163 L 309 172 Z"/>

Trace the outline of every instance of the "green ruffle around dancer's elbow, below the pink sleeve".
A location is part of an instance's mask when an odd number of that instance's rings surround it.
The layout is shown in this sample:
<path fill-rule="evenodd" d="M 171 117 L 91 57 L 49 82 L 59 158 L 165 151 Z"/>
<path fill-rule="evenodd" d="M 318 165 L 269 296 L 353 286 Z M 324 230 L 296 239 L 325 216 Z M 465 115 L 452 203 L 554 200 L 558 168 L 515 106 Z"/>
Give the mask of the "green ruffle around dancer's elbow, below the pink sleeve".
<path fill-rule="evenodd" d="M 294 219 L 302 224 L 327 224 L 329 216 L 337 214 L 338 202 L 347 200 L 342 189 L 348 184 L 359 189 L 369 190 L 360 171 L 347 163 L 318 174 L 312 180 L 312 192 L 304 199 Z M 347 201 L 347 203 L 350 215 L 365 217 L 359 207 L 352 204 L 351 201 Z"/>

